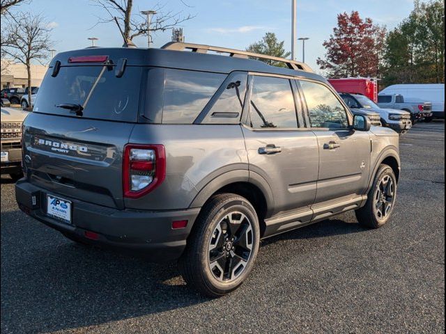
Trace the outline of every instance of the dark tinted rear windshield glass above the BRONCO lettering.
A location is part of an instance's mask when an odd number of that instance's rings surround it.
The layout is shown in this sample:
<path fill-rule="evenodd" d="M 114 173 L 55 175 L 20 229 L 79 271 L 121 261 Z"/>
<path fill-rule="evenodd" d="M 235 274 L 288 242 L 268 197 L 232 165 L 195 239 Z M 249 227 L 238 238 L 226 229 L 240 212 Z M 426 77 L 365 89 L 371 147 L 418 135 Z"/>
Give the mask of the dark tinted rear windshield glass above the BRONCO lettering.
<path fill-rule="evenodd" d="M 136 122 L 141 85 L 141 67 L 128 66 L 121 78 L 114 67 L 67 66 L 52 77 L 52 69 L 40 86 L 33 111 L 72 116 L 60 104 L 79 104 L 84 118 Z"/>

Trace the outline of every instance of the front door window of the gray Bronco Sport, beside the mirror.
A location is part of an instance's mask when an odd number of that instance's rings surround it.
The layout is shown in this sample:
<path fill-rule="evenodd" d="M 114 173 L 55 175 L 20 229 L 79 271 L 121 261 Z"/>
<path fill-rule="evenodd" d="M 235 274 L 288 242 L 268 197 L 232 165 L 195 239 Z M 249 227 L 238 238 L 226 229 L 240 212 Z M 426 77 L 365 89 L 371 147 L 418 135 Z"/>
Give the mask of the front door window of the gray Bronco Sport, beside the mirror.
<path fill-rule="evenodd" d="M 346 110 L 330 89 L 310 81 L 300 81 L 300 86 L 307 102 L 312 127 L 348 127 Z"/>

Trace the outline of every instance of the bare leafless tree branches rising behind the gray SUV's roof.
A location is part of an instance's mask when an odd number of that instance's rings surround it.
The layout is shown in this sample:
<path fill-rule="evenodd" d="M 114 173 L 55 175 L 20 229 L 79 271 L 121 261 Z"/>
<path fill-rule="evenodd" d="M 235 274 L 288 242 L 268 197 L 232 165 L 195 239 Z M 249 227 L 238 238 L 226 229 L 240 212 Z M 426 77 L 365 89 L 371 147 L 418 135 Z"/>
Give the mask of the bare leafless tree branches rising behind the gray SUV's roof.
<path fill-rule="evenodd" d="M 165 31 L 174 28 L 189 19 L 194 18 L 190 14 L 183 16 L 183 11 L 163 12 L 163 6 L 160 3 L 155 4 L 151 10 L 157 14 L 153 17 L 149 26 L 146 16 L 140 13 L 133 14 L 133 0 L 91 0 L 95 6 L 103 8 L 107 12 L 107 17 L 98 17 L 98 24 L 112 22 L 114 17 L 124 27 L 123 33 L 126 41 L 132 41 L 133 38 L 145 35 L 150 36 L 151 32 Z M 186 3 L 181 1 L 185 6 Z M 187 6 L 189 7 L 189 6 Z M 147 8 L 144 8 L 147 9 Z"/>

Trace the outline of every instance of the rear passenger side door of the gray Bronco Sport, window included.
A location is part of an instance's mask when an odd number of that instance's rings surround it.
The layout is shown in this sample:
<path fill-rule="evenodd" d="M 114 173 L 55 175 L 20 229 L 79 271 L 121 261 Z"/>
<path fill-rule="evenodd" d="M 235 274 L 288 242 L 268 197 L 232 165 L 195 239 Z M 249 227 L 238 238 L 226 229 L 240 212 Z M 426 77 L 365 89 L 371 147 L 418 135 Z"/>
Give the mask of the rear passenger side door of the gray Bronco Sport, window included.
<path fill-rule="evenodd" d="M 249 81 L 243 127 L 249 172 L 270 185 L 275 202 L 271 214 L 302 209 L 308 213 L 302 222 L 308 220 L 316 196 L 317 138 L 298 126 L 300 101 L 295 100 L 292 81 L 261 74 L 250 76 Z"/>

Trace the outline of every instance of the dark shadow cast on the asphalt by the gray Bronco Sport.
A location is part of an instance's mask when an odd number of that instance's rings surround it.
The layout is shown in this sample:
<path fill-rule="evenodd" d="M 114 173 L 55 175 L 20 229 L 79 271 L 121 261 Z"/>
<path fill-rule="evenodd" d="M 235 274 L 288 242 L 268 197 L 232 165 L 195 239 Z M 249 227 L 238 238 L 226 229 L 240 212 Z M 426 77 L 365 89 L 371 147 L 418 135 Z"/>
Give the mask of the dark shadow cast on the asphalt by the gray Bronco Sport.
<path fill-rule="evenodd" d="M 175 263 L 75 244 L 19 211 L 1 213 L 1 221 L 2 333 L 79 328 L 210 301 L 187 288 Z M 262 246 L 361 231 L 357 224 L 325 221 Z"/>

